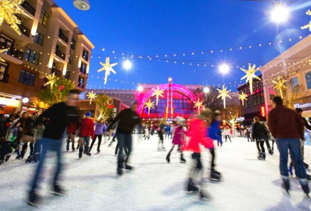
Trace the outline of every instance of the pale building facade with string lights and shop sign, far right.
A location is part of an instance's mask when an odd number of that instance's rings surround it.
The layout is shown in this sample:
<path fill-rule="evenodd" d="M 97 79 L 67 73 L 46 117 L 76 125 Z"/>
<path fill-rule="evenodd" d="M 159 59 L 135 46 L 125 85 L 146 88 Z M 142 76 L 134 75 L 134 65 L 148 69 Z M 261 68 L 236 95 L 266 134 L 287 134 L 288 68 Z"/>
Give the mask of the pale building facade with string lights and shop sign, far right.
<path fill-rule="evenodd" d="M 283 100 L 290 102 L 292 109 L 303 109 L 305 117 L 311 115 L 311 35 L 262 66 L 260 71 L 266 113 L 272 109 L 272 97 L 280 95 L 274 83 L 279 77 L 285 81 Z"/>

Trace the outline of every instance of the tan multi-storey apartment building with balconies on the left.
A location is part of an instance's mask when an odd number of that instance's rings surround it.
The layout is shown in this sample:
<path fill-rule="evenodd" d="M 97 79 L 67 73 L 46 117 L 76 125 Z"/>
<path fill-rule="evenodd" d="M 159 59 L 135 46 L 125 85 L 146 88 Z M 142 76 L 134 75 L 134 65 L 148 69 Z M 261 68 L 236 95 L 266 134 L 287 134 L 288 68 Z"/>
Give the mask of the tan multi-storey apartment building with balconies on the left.
<path fill-rule="evenodd" d="M 53 74 L 72 80 L 85 90 L 94 45 L 52 0 L 26 0 L 17 14 L 18 35 L 7 23 L 0 27 L 0 112 L 44 109 L 39 91 Z M 29 101 L 23 100 L 28 98 Z"/>

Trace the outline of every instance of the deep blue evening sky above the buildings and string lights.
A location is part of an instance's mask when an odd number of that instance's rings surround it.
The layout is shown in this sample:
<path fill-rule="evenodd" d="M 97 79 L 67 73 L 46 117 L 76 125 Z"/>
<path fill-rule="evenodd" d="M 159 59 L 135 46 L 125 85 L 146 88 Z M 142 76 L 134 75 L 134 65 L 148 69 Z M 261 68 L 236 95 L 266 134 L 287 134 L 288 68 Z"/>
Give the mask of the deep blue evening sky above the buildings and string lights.
<path fill-rule="evenodd" d="M 137 83 L 166 83 L 169 76 L 179 84 L 240 83 L 244 74 L 236 66 L 245 65 L 246 68 L 248 62 L 257 66 L 265 64 L 298 42 L 299 36 L 307 36 L 309 31 L 300 27 L 311 20 L 305 15 L 311 9 L 310 1 L 287 1 L 290 19 L 279 25 L 270 21 L 269 11 L 273 4 L 269 2 L 89 0 L 89 11 L 76 9 L 72 0 L 55 2 L 95 45 L 88 88 L 136 89 Z M 291 42 L 288 41 L 290 38 Z M 278 43 L 279 40 L 283 42 Z M 273 43 L 269 46 L 268 42 Z M 242 50 L 235 48 L 232 52 L 220 52 L 239 46 L 243 46 Z M 211 50 L 214 53 L 210 53 Z M 131 70 L 122 67 L 121 53 L 129 59 L 135 55 L 131 59 Z M 163 60 L 156 60 L 156 55 Z M 100 61 L 105 62 L 106 56 L 110 56 L 111 63 L 119 64 L 114 67 L 116 75 L 111 73 L 104 85 L 104 72 L 97 73 L 96 70 L 101 67 Z M 147 56 L 152 60 L 147 60 Z M 183 61 L 186 62 L 184 65 Z M 223 62 L 234 66 L 225 76 L 217 67 Z"/>

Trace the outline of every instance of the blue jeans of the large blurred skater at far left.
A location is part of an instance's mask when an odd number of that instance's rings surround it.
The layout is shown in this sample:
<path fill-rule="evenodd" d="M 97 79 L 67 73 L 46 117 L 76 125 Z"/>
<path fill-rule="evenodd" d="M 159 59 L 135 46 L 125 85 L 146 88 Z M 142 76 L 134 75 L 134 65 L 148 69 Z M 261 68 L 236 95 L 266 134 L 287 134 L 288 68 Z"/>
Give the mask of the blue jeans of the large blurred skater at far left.
<path fill-rule="evenodd" d="M 40 174 L 41 174 L 43 164 L 46 159 L 48 151 L 55 151 L 57 153 L 57 167 L 56 167 L 55 176 L 54 176 L 54 183 L 53 183 L 54 185 L 56 185 L 58 182 L 59 173 L 61 172 L 61 167 L 62 167 L 61 149 L 62 149 L 63 139 L 55 140 L 55 139 L 42 138 L 40 142 L 42 144 L 42 155 L 41 155 L 40 162 L 37 166 L 35 176 L 31 183 L 31 192 L 35 191 L 35 189 L 37 188 Z"/>

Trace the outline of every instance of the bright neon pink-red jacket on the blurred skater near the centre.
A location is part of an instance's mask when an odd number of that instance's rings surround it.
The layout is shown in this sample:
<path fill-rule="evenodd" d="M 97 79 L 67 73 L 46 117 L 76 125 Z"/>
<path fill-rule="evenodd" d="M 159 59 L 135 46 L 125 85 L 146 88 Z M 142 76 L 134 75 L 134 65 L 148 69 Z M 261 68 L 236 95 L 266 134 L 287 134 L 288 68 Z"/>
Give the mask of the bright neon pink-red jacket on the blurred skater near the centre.
<path fill-rule="evenodd" d="M 203 120 L 193 118 L 190 120 L 190 128 L 187 132 L 188 142 L 183 146 L 183 150 L 200 153 L 200 145 L 206 148 L 214 148 L 213 140 L 207 137 L 207 128 Z"/>

